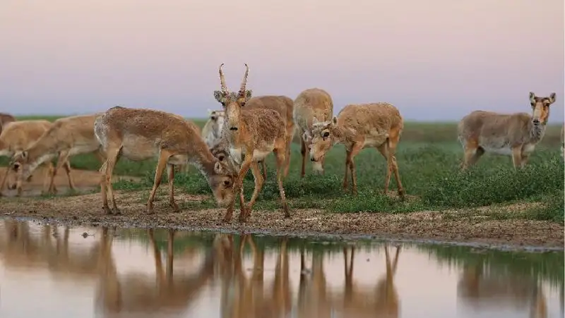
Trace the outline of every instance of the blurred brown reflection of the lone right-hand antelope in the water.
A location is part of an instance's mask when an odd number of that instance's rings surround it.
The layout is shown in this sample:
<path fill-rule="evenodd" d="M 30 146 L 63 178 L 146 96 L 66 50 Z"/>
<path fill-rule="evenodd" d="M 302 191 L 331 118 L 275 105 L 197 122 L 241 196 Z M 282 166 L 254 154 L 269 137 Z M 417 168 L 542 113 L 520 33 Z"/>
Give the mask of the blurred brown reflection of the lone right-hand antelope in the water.
<path fill-rule="evenodd" d="M 526 279 L 480 262 L 465 265 L 457 289 L 458 298 L 465 305 L 479 310 L 489 306 L 512 307 L 529 310 L 530 318 L 547 317 L 545 293 L 537 278 Z"/>

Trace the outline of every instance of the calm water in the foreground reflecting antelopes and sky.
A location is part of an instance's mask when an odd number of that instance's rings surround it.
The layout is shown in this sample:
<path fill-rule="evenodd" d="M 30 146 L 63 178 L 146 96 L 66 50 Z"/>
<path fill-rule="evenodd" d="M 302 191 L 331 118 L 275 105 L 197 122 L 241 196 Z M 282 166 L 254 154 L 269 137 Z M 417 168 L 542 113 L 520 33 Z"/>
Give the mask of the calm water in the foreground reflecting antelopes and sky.
<path fill-rule="evenodd" d="M 563 317 L 563 288 L 563 252 L 0 220 L 2 318 Z"/>

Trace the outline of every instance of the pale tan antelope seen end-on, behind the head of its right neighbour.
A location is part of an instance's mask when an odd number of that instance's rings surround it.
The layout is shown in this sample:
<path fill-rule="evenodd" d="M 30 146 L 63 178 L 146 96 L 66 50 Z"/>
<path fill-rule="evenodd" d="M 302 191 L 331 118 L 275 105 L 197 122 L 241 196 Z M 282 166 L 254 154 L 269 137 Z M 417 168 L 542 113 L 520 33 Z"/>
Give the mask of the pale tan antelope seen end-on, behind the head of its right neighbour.
<path fill-rule="evenodd" d="M 333 114 L 333 101 L 330 94 L 320 88 L 304 90 L 295 99 L 293 117 L 300 134 L 300 153 L 302 154 L 302 169 L 300 176 L 304 177 L 304 166 L 307 157 L 307 140 L 311 138 L 312 123 L 316 121 L 329 121 Z M 312 161 L 312 169 L 323 173 L 323 159 L 319 162 Z"/>

